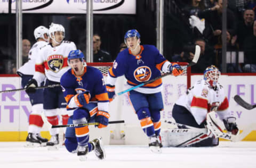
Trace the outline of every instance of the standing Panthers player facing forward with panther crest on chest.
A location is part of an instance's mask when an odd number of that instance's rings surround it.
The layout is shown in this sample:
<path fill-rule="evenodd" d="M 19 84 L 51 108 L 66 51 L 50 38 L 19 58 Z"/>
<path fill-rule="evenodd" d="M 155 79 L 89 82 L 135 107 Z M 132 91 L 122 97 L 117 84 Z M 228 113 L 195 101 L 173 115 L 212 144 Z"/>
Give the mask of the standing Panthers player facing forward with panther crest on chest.
<path fill-rule="evenodd" d="M 29 80 L 25 86 L 27 93 L 34 93 L 35 87 L 45 80 L 45 86 L 60 84 L 60 78 L 68 69 L 67 57 L 70 51 L 76 49 L 76 45 L 71 41 L 63 41 L 65 29 L 61 24 L 52 23 L 49 28 L 51 43 L 42 47 L 36 60 L 36 72 L 33 79 Z M 66 101 L 63 97 L 61 87 L 45 88 L 43 94 L 43 108 L 47 120 L 52 125 L 58 125 L 58 111 L 62 112 L 62 123 L 67 124 L 68 115 Z M 50 130 L 51 139 L 46 143 L 49 149 L 57 148 L 59 144 L 59 129 Z"/>

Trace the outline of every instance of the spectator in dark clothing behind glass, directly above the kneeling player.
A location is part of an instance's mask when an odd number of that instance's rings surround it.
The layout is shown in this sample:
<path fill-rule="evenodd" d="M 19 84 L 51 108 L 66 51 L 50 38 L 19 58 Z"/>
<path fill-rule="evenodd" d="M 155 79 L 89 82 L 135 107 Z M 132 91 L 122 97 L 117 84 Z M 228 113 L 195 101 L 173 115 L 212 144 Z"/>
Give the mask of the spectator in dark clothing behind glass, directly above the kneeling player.
<path fill-rule="evenodd" d="M 93 62 L 111 62 L 111 55 L 100 49 L 101 40 L 98 34 L 93 35 Z"/>

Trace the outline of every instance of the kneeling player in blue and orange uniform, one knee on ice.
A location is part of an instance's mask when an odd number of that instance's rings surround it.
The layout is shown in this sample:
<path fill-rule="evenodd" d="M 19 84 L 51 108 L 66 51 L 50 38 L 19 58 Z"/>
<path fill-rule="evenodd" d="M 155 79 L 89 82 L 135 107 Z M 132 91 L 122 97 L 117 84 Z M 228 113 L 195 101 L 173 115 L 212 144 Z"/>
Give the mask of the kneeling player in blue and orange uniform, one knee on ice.
<path fill-rule="evenodd" d="M 109 99 L 102 73 L 91 66 L 86 66 L 84 54 L 80 50 L 68 55 L 71 69 L 61 77 L 60 83 L 67 101 L 69 124 L 98 122 L 98 128 L 108 125 Z M 89 101 L 97 100 L 98 103 Z M 83 161 L 86 154 L 93 151 L 99 159 L 105 158 L 101 138 L 89 142 L 88 126 L 69 127 L 66 130 L 65 146 L 69 152 L 77 149 L 79 159 Z"/>

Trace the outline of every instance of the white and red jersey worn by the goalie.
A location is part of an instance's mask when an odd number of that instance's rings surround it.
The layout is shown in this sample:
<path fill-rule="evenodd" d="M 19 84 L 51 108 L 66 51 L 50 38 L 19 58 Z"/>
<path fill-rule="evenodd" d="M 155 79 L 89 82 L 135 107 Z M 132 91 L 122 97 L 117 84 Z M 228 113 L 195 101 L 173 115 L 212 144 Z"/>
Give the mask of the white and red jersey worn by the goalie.
<path fill-rule="evenodd" d="M 218 106 L 217 114 L 221 120 L 230 116 L 228 99 L 223 87 L 217 83 L 214 90 L 204 79 L 197 81 L 175 104 L 186 107 L 198 125 L 205 120 L 207 112 L 214 106 Z"/>

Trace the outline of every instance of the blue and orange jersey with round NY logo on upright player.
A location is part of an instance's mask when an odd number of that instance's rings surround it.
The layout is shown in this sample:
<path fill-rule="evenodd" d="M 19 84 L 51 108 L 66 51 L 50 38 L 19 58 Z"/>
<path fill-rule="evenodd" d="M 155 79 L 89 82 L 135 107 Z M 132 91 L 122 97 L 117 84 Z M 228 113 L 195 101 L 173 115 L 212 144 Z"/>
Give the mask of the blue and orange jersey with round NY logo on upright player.
<path fill-rule="evenodd" d="M 170 64 L 153 45 L 141 45 L 141 52 L 138 55 L 132 55 L 130 49 L 126 48 L 117 55 L 113 66 L 109 69 L 107 84 L 114 86 L 116 78 L 125 75 L 127 84 L 131 88 L 159 77 L 161 71 L 169 72 Z M 158 79 L 134 90 L 143 94 L 153 94 L 161 89 L 162 79 Z"/>

